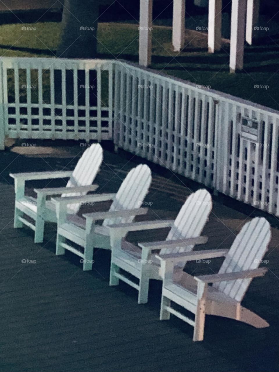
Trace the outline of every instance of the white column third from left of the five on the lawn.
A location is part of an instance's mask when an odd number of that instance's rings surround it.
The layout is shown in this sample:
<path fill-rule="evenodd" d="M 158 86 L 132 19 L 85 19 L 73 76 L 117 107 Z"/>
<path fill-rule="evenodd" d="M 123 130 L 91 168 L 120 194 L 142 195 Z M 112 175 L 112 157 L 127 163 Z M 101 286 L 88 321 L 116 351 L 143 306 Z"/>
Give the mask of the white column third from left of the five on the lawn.
<path fill-rule="evenodd" d="M 208 52 L 221 49 L 222 0 L 209 0 L 208 6 Z"/>

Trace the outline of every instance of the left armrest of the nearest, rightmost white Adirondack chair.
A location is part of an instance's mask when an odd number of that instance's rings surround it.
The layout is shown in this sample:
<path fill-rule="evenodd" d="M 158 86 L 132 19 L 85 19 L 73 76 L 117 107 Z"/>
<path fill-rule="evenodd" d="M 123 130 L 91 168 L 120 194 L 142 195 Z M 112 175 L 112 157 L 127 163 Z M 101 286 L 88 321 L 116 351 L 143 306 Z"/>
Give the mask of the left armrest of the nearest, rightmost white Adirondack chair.
<path fill-rule="evenodd" d="M 179 262 L 181 260 L 193 261 L 193 260 L 206 260 L 216 257 L 224 257 L 228 253 L 228 249 L 215 249 L 215 250 L 201 250 L 192 252 L 181 252 L 181 253 L 168 253 L 158 254 L 156 257 L 159 260 L 171 260 L 173 262 Z"/>

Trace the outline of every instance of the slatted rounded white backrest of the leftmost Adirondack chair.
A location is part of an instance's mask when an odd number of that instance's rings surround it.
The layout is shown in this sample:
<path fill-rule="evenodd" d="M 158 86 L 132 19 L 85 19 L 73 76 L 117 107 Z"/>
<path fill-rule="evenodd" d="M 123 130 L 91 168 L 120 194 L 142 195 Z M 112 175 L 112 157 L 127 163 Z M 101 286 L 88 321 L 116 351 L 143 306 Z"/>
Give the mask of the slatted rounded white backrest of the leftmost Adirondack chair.
<path fill-rule="evenodd" d="M 71 178 L 68 180 L 66 187 L 88 186 L 92 185 L 100 165 L 103 161 L 103 149 L 100 144 L 93 144 L 87 148 L 82 154 L 80 160 L 73 171 Z M 86 195 L 86 192 L 73 192 L 70 194 L 62 194 L 61 196 L 81 196 Z M 80 208 L 79 204 L 69 204 L 67 212 L 76 214 Z"/>

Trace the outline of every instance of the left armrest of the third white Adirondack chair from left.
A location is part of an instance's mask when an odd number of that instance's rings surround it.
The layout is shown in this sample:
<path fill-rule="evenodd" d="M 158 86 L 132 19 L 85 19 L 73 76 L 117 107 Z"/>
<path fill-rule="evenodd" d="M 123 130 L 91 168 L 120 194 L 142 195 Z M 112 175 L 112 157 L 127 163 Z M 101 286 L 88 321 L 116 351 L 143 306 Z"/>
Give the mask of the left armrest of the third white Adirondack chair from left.
<path fill-rule="evenodd" d="M 113 224 L 108 225 L 107 227 L 109 227 L 111 230 L 116 230 L 118 234 L 123 233 L 124 235 L 126 235 L 129 231 L 154 230 L 171 227 L 173 223 L 174 220 L 172 219 L 157 219 L 154 221 L 131 222 L 128 224 Z"/>

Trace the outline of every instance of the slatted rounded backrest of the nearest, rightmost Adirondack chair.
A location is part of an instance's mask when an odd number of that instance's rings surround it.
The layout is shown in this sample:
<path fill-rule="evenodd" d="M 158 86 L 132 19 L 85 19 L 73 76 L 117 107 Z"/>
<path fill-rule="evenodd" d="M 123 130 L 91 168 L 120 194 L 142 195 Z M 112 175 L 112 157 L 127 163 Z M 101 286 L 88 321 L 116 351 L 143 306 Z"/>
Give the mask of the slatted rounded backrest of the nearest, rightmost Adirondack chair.
<path fill-rule="evenodd" d="M 270 225 L 265 218 L 255 217 L 247 222 L 232 243 L 219 273 L 256 269 L 267 251 L 270 238 Z M 214 283 L 213 286 L 235 300 L 241 301 L 251 280 L 251 278 L 229 280 Z"/>

